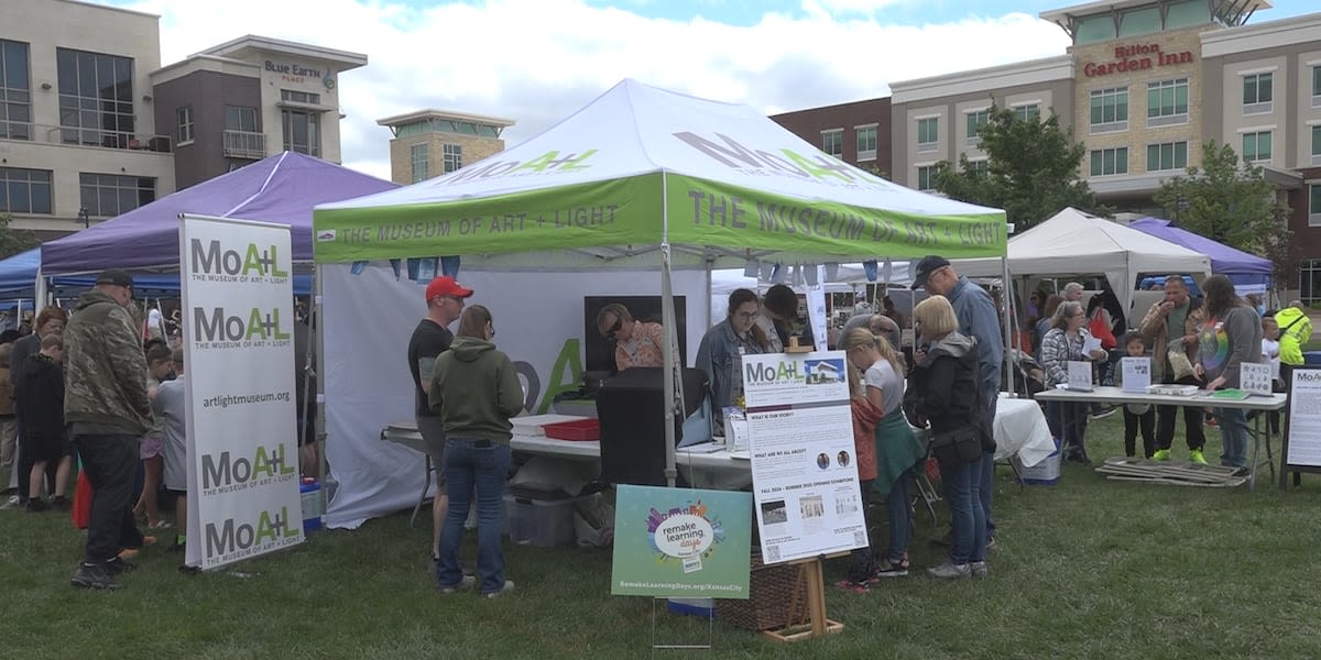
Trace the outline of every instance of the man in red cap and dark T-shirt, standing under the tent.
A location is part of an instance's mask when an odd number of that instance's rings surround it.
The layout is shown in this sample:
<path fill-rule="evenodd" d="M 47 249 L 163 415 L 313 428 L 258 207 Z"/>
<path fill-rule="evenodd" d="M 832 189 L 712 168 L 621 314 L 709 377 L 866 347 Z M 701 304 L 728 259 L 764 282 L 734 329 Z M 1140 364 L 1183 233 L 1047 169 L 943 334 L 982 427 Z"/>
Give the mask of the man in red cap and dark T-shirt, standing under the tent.
<path fill-rule="evenodd" d="M 412 339 L 408 341 L 408 371 L 413 376 L 416 395 L 413 413 L 417 420 L 417 432 L 421 433 L 427 454 L 431 455 L 431 465 L 436 469 L 436 499 L 432 500 L 431 506 L 432 562 L 440 553 L 440 529 L 445 520 L 449 498 L 445 495 L 445 425 L 440 416 L 431 412 L 428 401 L 431 376 L 436 358 L 449 350 L 449 343 L 454 341 L 454 334 L 445 326 L 458 319 L 464 313 L 464 300 L 472 294 L 472 289 L 460 286 L 448 275 L 432 280 L 427 285 L 427 315 L 417 323 Z"/>

